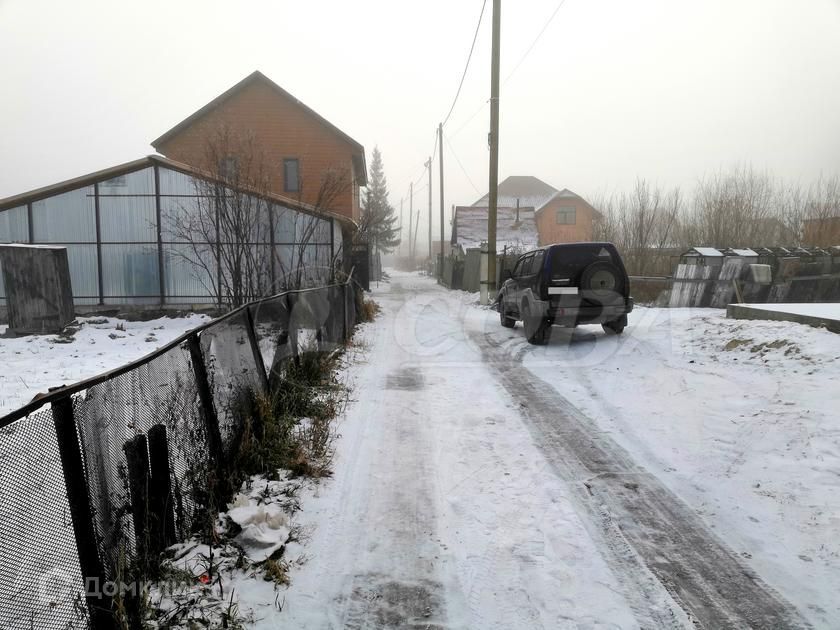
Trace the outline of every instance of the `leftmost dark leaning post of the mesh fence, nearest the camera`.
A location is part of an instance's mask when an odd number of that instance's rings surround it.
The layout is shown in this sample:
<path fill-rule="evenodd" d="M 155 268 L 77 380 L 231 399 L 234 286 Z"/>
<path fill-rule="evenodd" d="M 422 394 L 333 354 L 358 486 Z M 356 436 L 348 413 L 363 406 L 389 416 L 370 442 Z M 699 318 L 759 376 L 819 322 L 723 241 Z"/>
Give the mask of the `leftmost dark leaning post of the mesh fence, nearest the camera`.
<path fill-rule="evenodd" d="M 91 628 L 105 630 L 112 628 L 111 598 L 104 594 L 105 570 L 99 557 L 96 533 L 93 527 L 93 509 L 90 504 L 87 479 L 85 478 L 79 432 L 73 416 L 73 400 L 70 396 L 52 403 L 53 423 L 64 472 L 64 487 L 70 506 L 70 519 L 79 554 L 79 568 L 84 580 L 85 600 L 90 612 Z M 90 589 L 95 584 L 97 587 Z"/>

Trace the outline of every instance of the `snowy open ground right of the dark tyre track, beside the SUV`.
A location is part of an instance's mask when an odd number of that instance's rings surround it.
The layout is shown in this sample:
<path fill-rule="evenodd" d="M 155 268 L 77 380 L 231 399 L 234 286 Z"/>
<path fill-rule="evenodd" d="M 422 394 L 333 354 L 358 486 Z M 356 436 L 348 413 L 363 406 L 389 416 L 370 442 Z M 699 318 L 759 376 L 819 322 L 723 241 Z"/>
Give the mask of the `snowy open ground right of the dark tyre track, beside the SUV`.
<path fill-rule="evenodd" d="M 713 309 L 639 308 L 624 337 L 557 330 L 549 346 L 528 349 L 525 366 L 816 626 L 836 626 L 839 335 Z"/>

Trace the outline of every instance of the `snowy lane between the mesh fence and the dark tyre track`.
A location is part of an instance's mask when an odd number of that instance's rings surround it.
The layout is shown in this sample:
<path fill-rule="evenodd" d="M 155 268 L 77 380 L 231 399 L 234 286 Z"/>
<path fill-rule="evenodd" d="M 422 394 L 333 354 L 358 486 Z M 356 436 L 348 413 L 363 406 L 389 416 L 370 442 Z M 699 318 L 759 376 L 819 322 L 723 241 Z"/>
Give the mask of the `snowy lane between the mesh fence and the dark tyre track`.
<path fill-rule="evenodd" d="M 428 291 L 432 292 L 418 293 Z M 357 333 L 335 471 L 302 498 L 283 610 L 257 628 L 636 627 L 630 606 L 468 340 L 463 293 L 396 275 Z M 253 602 L 251 602 L 253 603 Z"/>

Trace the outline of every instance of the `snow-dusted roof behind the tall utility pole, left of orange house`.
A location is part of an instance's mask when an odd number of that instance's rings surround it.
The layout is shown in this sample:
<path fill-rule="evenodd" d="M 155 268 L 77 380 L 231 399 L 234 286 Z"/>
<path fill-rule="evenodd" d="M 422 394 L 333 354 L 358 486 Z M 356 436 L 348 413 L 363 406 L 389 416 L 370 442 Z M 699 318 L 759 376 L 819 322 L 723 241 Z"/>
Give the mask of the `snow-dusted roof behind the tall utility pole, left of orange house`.
<path fill-rule="evenodd" d="M 458 206 L 455 208 L 453 233 L 463 249 L 480 247 L 487 240 L 487 207 Z M 498 208 L 496 211 L 496 250 L 503 247 L 534 249 L 539 245 L 534 208 Z"/>

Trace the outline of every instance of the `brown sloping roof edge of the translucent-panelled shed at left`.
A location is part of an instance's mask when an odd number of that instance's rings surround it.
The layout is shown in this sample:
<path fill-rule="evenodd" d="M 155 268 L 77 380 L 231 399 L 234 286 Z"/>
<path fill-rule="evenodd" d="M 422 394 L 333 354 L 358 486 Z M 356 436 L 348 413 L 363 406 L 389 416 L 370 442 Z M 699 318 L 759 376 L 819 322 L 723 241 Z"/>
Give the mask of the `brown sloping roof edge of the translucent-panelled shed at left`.
<path fill-rule="evenodd" d="M 43 188 L 36 188 L 35 190 L 30 190 L 29 192 L 14 195 L 12 197 L 6 197 L 5 199 L 0 199 L 0 212 L 3 210 L 8 210 L 10 208 L 23 206 L 28 203 L 33 203 L 41 199 L 46 199 L 47 197 L 60 195 L 61 193 L 69 192 L 71 190 L 82 188 L 84 186 L 92 186 L 96 182 L 102 182 L 108 179 L 113 179 L 114 177 L 126 175 L 128 173 L 133 173 L 135 171 L 139 171 L 144 168 L 148 168 L 150 166 L 155 165 L 169 168 L 173 171 L 178 171 L 180 173 L 184 173 L 185 175 L 190 175 L 196 178 L 205 179 L 209 181 L 217 181 L 222 184 L 224 183 L 221 182 L 212 173 L 202 171 L 201 169 L 195 168 L 194 166 L 190 166 L 189 164 L 184 164 L 182 162 L 170 160 L 169 158 L 163 157 L 162 155 L 147 155 L 146 157 L 140 158 L 139 160 L 125 162 L 124 164 L 118 164 L 117 166 L 112 166 L 110 168 L 102 169 L 100 171 L 88 173 L 87 175 L 82 175 L 81 177 L 74 177 L 73 179 L 58 182 L 57 184 L 44 186 Z M 240 190 L 243 193 L 259 195 L 260 197 L 263 197 L 268 201 L 297 210 L 299 212 L 303 212 L 305 214 L 315 215 L 322 218 L 337 219 L 351 226 L 356 226 L 355 221 L 353 221 L 353 219 L 351 219 L 348 216 L 338 214 L 337 212 L 324 210 L 322 208 L 316 208 L 315 206 L 303 203 L 296 199 L 290 199 L 289 197 L 284 197 L 275 193 L 265 194 L 263 192 L 250 190 L 248 188 L 241 188 Z"/>

